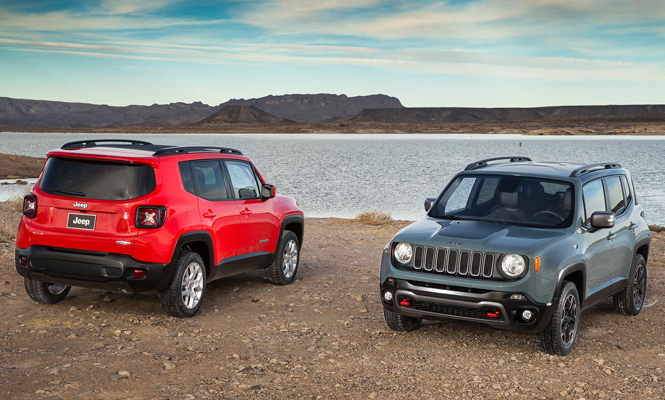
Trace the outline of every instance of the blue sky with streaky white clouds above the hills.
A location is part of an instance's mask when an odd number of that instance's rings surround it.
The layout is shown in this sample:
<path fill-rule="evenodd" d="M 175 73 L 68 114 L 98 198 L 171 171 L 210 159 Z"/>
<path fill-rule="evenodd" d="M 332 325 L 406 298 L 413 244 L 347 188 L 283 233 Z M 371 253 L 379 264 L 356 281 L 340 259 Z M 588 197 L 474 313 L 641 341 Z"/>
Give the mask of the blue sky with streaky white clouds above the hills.
<path fill-rule="evenodd" d="M 0 96 L 665 103 L 661 0 L 0 0 Z"/>

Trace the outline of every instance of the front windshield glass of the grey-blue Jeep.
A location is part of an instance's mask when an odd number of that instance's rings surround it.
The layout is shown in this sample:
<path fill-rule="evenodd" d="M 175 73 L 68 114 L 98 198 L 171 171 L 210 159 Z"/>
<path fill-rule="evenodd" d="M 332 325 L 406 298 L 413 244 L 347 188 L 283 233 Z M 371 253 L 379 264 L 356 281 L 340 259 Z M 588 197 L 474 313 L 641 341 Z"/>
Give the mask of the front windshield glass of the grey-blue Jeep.
<path fill-rule="evenodd" d="M 434 203 L 431 217 L 564 228 L 573 220 L 573 185 L 528 176 L 458 176 Z"/>

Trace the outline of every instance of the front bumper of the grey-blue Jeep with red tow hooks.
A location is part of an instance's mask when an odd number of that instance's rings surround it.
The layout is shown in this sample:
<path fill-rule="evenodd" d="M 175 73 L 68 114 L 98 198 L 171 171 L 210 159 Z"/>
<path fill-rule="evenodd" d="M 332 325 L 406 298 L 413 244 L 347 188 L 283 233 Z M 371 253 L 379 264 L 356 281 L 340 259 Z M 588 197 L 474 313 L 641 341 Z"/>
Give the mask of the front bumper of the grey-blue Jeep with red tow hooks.
<path fill-rule="evenodd" d="M 392 279 L 392 278 L 390 278 Z M 381 284 L 381 302 L 392 312 L 420 319 L 457 319 L 479 322 L 500 329 L 524 332 L 540 332 L 547 326 L 554 307 L 532 301 L 523 293 L 507 293 L 488 290 L 436 285 L 402 279 L 386 279 Z M 386 301 L 384 293 L 390 292 L 392 300 Z M 510 296 L 521 294 L 524 300 Z M 522 312 L 535 314 L 530 320 L 522 318 Z"/>

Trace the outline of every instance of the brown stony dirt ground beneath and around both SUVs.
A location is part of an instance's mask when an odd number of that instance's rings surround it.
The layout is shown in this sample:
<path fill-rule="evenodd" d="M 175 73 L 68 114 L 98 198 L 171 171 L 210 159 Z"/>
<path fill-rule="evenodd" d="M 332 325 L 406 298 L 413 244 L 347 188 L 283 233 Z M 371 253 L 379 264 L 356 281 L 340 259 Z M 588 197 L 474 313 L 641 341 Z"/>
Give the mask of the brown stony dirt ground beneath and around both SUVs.
<path fill-rule="evenodd" d="M 404 225 L 308 219 L 293 285 L 260 272 L 215 281 L 185 320 L 165 316 L 150 295 L 74 288 L 59 304 L 34 303 L 5 241 L 0 397 L 665 398 L 665 234 L 653 235 L 642 314 L 619 315 L 604 301 L 582 313 L 573 352 L 554 357 L 534 335 L 471 323 L 390 331 L 379 261 Z"/>

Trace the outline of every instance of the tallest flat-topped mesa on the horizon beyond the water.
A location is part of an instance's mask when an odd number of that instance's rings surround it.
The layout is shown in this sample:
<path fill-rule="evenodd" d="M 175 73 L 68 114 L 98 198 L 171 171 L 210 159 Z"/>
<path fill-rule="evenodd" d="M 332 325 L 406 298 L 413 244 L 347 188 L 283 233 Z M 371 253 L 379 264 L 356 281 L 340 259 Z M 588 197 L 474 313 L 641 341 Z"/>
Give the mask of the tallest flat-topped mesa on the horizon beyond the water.
<path fill-rule="evenodd" d="M 221 106 L 253 106 L 278 117 L 301 122 L 334 122 L 364 109 L 403 108 L 395 97 L 383 94 L 348 97 L 336 94 L 287 94 L 258 99 L 231 99 Z"/>

